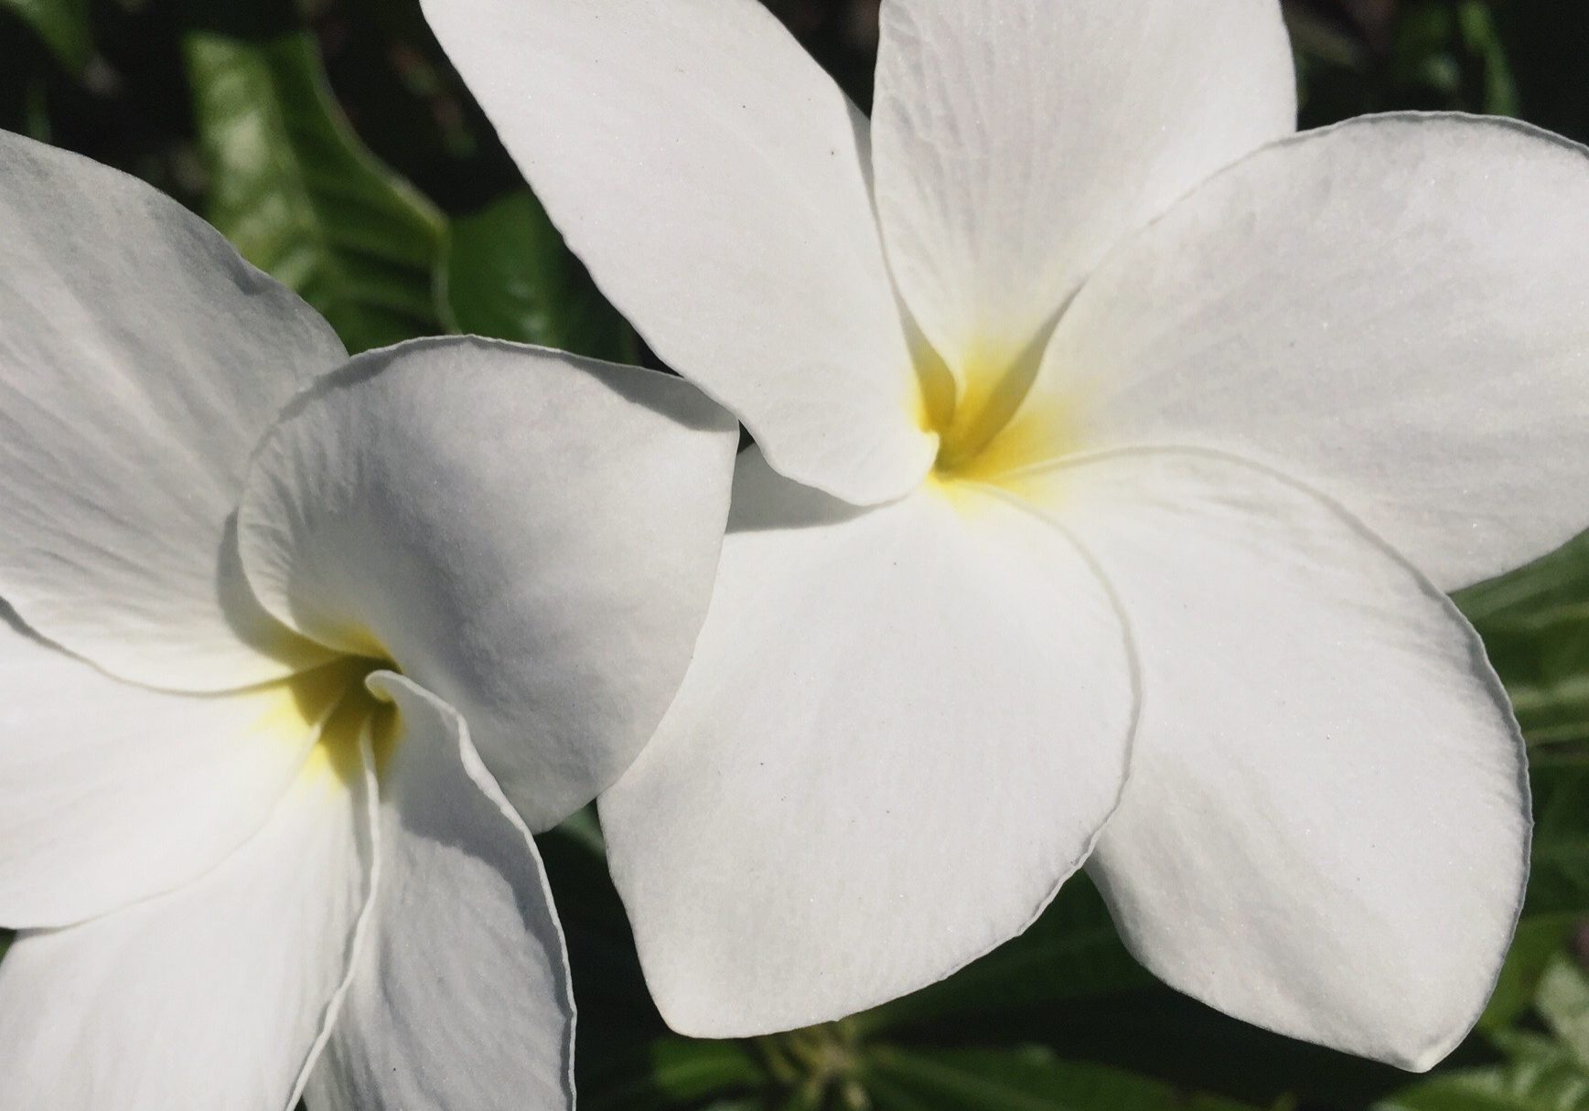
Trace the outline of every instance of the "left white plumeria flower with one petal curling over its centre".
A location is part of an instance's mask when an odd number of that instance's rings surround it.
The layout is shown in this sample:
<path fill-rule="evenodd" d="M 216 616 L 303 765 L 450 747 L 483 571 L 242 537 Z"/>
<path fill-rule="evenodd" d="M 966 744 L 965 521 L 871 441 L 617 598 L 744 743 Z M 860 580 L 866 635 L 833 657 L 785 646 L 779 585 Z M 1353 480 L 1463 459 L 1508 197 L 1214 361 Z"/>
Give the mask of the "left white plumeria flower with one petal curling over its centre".
<path fill-rule="evenodd" d="M 485 340 L 348 362 L 172 200 L 3 134 L 0 238 L 0 1101 L 570 1106 L 526 823 L 672 698 L 733 420 Z"/>

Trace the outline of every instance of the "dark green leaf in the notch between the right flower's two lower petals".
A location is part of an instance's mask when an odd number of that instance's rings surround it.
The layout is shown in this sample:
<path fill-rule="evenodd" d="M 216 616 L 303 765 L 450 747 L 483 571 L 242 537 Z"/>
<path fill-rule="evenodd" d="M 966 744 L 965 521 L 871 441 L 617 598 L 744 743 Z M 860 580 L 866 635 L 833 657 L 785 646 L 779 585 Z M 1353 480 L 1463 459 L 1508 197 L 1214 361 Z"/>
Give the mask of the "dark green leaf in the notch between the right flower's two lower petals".
<path fill-rule="evenodd" d="M 1085 874 L 1073 876 L 1023 935 L 915 995 L 855 1019 L 863 1033 L 945 1016 L 1071 1001 L 1154 984 L 1127 952 Z"/>

